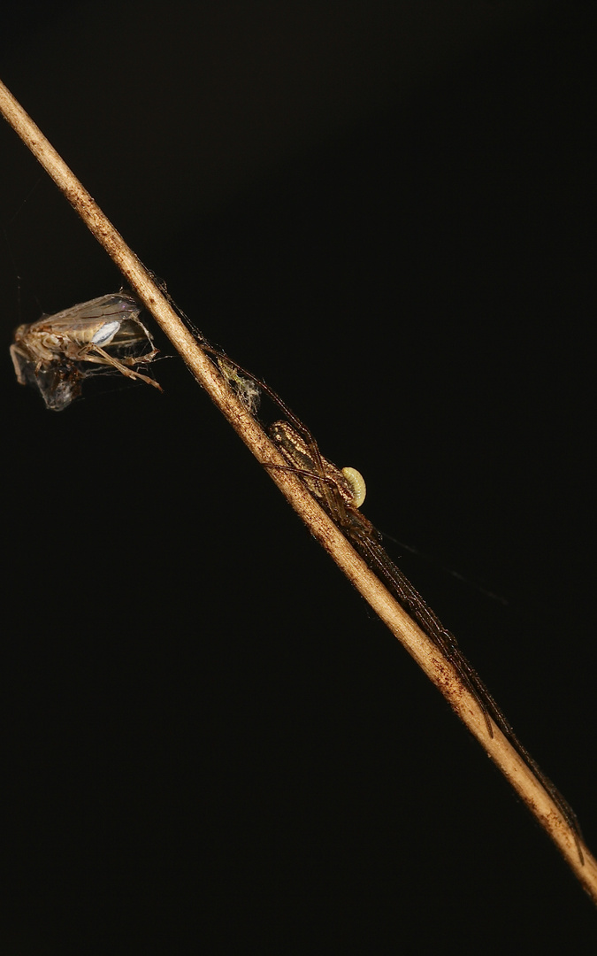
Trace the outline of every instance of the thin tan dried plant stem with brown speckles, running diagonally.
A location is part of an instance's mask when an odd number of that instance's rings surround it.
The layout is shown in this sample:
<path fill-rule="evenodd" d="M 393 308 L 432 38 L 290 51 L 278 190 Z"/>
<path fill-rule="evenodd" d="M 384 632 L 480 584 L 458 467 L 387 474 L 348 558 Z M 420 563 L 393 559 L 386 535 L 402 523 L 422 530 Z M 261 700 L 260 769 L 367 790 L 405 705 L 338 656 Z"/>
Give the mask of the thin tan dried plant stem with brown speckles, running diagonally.
<path fill-rule="evenodd" d="M 151 275 L 135 253 L 129 249 L 117 230 L 104 216 L 87 190 L 75 178 L 53 146 L 25 113 L 20 104 L 0 82 L 0 110 L 13 129 L 32 150 L 33 155 L 62 190 L 88 228 L 96 236 L 139 295 L 146 309 L 181 354 L 196 380 L 203 385 L 213 402 L 241 436 L 257 460 L 264 466 L 286 465 L 267 434 L 248 414 L 244 405 L 228 387 L 214 364 L 185 328 L 181 319 L 164 298 Z M 354 587 L 365 597 L 376 614 L 387 624 L 395 637 L 436 684 L 460 719 L 477 737 L 494 763 L 522 797 L 561 853 L 594 902 L 597 902 L 597 861 L 583 844 L 584 864 L 579 858 L 575 836 L 544 788 L 524 764 L 519 754 L 494 727 L 494 736 L 487 733 L 480 708 L 460 681 L 452 665 L 437 647 L 409 618 L 406 612 L 367 567 L 362 558 L 322 511 L 298 477 L 288 470 L 268 468 L 268 474 L 286 495 L 309 531 L 330 554 Z"/>

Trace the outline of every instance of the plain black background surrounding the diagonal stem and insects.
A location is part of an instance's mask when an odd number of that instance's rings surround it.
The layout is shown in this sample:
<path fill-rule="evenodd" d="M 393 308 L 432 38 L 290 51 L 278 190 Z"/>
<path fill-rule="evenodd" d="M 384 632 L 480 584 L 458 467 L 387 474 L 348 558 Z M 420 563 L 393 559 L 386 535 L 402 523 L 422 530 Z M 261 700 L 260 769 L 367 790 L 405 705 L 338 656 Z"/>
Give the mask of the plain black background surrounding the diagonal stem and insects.
<path fill-rule="evenodd" d="M 588 6 L 32 6 L 1 50 L 181 308 L 434 559 L 388 545 L 594 848 Z M 564 862 L 180 359 L 60 414 L 17 386 L 13 327 L 120 278 L 0 150 L 6 951 L 594 952 Z"/>

